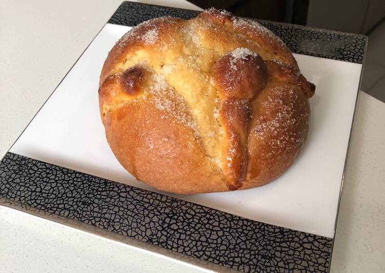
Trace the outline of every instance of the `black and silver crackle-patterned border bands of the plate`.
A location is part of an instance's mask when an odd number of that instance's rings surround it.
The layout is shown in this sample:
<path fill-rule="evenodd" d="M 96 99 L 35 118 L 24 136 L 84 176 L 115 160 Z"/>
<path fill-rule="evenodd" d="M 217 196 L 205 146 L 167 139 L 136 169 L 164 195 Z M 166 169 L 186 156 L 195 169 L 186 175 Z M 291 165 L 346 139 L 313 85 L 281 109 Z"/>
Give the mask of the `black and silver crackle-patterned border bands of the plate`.
<path fill-rule="evenodd" d="M 108 23 L 135 26 L 154 17 L 187 19 L 198 13 L 124 2 Z M 363 63 L 366 36 L 260 23 L 295 53 Z M 206 267 L 214 270 L 219 265 L 247 272 L 325 272 L 330 266 L 331 238 L 241 218 L 11 152 L 0 162 L 0 204 L 8 203 L 41 211 L 43 217 L 49 214 L 46 218 L 54 221 L 68 219 L 212 263 Z"/>

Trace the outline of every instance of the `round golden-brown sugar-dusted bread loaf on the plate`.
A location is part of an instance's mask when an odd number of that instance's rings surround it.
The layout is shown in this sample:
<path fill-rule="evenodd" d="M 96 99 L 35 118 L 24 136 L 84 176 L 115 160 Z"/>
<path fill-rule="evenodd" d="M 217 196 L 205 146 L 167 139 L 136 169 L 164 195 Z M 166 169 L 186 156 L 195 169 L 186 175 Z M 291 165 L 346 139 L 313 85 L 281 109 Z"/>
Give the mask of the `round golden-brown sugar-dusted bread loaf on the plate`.
<path fill-rule="evenodd" d="M 108 54 L 98 93 L 121 165 L 157 189 L 192 194 L 259 187 L 285 172 L 306 141 L 314 90 L 271 31 L 209 9 L 131 29 Z"/>

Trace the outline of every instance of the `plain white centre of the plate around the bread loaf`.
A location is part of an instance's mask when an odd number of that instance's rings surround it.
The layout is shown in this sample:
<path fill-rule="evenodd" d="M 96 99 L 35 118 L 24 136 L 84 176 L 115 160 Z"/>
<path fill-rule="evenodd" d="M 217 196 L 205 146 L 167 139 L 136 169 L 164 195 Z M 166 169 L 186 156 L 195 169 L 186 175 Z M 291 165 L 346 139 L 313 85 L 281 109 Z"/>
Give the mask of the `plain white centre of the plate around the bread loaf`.
<path fill-rule="evenodd" d="M 10 149 L 11 152 L 156 191 L 112 154 L 100 121 L 98 79 L 108 51 L 130 27 L 107 24 Z M 237 216 L 333 238 L 361 64 L 294 54 L 316 85 L 308 141 L 293 166 L 269 185 L 178 196 Z"/>

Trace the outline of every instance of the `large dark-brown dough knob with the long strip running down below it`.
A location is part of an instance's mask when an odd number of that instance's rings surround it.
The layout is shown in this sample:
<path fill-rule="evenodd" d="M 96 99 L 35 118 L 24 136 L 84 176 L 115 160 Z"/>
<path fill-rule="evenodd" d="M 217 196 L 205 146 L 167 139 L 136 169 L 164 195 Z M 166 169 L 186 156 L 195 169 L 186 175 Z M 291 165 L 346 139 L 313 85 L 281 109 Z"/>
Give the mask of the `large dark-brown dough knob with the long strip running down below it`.
<path fill-rule="evenodd" d="M 248 134 L 253 99 L 268 81 L 262 58 L 248 49 L 236 49 L 220 57 L 213 68 L 215 87 L 221 100 L 219 115 L 224 128 L 222 171 L 230 190 L 242 187 L 247 174 Z"/>

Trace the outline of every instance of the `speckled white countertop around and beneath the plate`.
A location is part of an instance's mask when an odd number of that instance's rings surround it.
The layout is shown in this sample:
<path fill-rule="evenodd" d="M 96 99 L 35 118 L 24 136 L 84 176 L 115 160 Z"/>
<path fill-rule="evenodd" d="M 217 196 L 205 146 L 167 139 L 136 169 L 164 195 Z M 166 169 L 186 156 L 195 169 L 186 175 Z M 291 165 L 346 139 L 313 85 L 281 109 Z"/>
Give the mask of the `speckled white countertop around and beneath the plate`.
<path fill-rule="evenodd" d="M 139 1 L 198 9 L 181 0 Z M 21 134 L 121 1 L 0 0 L 0 155 Z M 332 272 L 384 271 L 385 104 L 360 92 Z M 201 271 L 0 206 L 0 271 Z M 141 267 L 140 267 L 141 266 Z"/>

